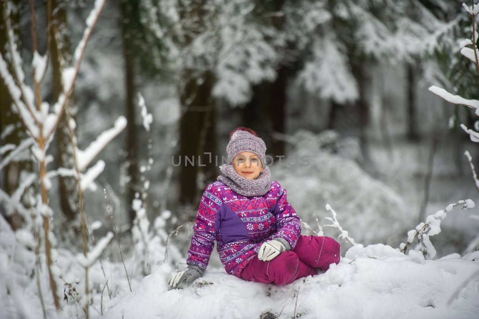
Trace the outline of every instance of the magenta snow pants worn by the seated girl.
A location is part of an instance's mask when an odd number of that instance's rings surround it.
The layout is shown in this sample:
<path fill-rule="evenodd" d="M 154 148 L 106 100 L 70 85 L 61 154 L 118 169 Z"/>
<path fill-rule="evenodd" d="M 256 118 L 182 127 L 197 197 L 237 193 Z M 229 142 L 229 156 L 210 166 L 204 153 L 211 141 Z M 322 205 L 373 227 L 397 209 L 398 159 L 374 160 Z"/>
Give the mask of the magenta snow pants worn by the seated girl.
<path fill-rule="evenodd" d="M 331 237 L 300 235 L 292 251 L 284 251 L 267 262 L 256 255 L 241 273 L 241 278 L 286 285 L 298 278 L 318 274 L 315 268 L 327 270 L 331 263 L 338 263 L 340 247 Z"/>

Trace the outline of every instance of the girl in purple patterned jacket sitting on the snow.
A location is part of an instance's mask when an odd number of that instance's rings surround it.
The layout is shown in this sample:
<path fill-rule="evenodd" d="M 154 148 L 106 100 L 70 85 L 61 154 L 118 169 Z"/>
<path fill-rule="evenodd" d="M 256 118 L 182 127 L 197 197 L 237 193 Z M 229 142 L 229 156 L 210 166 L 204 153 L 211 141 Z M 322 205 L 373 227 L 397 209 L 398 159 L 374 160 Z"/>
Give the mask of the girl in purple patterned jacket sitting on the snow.
<path fill-rule="evenodd" d="M 246 127 L 229 135 L 225 176 L 206 187 L 200 201 L 188 267 L 169 280 L 181 288 L 201 277 L 215 240 L 228 274 L 244 280 L 286 285 L 338 263 L 340 244 L 326 236 L 301 235 L 301 222 L 286 190 L 265 163 L 262 138 Z"/>

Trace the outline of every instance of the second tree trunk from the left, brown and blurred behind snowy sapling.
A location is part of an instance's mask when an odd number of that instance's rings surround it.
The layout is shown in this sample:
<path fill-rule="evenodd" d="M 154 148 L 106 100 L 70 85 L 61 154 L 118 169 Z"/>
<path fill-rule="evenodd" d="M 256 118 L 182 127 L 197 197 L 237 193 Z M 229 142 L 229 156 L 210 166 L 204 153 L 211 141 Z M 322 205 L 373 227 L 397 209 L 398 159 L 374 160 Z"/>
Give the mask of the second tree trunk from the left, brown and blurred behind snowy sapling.
<path fill-rule="evenodd" d="M 64 0 L 52 0 L 51 6 L 51 27 L 49 32 L 50 42 L 50 61 L 52 63 L 52 77 L 53 77 L 53 99 L 57 101 L 58 96 L 62 93 L 61 85 L 61 69 L 59 58 L 64 60 L 64 67 L 72 65 L 72 56 L 70 53 L 70 39 L 67 32 L 67 11 Z M 55 31 L 57 30 L 57 31 Z M 61 44 L 58 43 L 55 33 L 60 35 Z M 61 47 L 59 52 L 58 47 Z M 68 111 L 72 119 L 76 120 L 78 108 L 74 103 L 73 93 L 68 99 Z M 73 159 L 73 149 L 70 140 L 70 133 L 67 123 L 67 115 L 64 113 L 58 123 L 56 132 L 56 160 L 57 167 L 64 167 L 67 169 L 74 169 L 75 163 Z M 78 216 L 77 206 L 77 181 L 74 177 L 58 176 L 60 186 L 60 205 L 63 214 L 68 220 L 75 219 Z"/>

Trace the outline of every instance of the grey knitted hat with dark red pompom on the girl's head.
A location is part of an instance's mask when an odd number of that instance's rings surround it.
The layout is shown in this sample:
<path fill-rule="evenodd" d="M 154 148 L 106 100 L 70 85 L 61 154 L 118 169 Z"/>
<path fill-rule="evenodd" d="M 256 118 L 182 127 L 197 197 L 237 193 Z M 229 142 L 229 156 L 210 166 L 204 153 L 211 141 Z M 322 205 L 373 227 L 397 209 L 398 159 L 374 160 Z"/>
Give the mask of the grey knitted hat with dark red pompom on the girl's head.
<path fill-rule="evenodd" d="M 239 126 L 229 134 L 228 164 L 231 164 L 238 153 L 252 152 L 258 155 L 263 165 L 266 165 L 266 144 L 251 128 Z"/>

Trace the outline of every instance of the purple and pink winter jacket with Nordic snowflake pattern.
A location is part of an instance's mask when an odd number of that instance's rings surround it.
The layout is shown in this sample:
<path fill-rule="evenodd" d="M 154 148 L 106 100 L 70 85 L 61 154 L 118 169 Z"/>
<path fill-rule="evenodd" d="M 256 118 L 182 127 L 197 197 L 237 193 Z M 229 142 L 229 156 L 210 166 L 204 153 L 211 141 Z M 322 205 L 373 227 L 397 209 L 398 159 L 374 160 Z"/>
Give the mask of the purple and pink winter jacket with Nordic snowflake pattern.
<path fill-rule="evenodd" d="M 286 190 L 276 181 L 271 181 L 271 189 L 263 196 L 251 197 L 216 181 L 201 196 L 193 231 L 187 264 L 206 269 L 216 239 L 226 272 L 241 277 L 264 241 L 282 237 L 293 250 L 301 222 L 286 201 Z"/>

